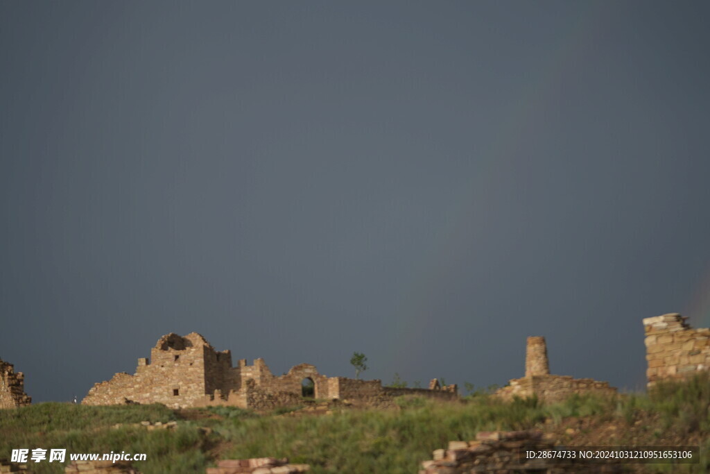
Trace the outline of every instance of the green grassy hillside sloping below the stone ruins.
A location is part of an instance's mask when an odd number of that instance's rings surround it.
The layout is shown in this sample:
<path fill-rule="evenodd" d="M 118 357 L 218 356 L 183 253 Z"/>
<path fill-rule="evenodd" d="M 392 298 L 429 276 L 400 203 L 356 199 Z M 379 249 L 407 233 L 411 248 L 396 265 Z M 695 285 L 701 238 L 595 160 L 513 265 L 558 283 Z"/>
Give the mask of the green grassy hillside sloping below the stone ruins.
<path fill-rule="evenodd" d="M 560 444 L 578 446 L 701 446 L 701 465 L 645 472 L 710 472 L 710 378 L 667 384 L 652 394 L 617 399 L 572 397 L 540 406 L 535 399 L 503 403 L 477 394 L 461 403 L 400 399 L 393 410 L 334 407 L 329 414 L 236 408 L 175 412 L 164 406 L 77 406 L 43 403 L 0 410 L 0 458 L 13 448 L 67 448 L 74 453 L 147 453 L 143 473 L 204 472 L 218 458 L 288 457 L 313 473 L 416 473 L 432 450 L 469 440 L 481 430 L 537 427 Z M 141 421 L 178 421 L 148 431 Z M 122 426 L 116 427 L 116 424 Z M 43 461 L 38 473 L 60 473 Z"/>

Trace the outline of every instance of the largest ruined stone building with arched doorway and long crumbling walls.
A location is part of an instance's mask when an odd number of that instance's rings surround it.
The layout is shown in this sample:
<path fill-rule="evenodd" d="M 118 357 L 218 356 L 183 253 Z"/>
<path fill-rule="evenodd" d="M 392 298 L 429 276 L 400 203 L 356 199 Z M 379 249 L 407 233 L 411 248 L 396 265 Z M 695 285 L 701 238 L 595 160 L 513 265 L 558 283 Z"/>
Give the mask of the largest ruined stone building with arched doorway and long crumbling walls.
<path fill-rule="evenodd" d="M 125 372 L 94 384 L 82 404 L 161 403 L 173 408 L 227 404 L 249 409 L 271 409 L 295 404 L 303 395 L 302 382 L 312 382 L 317 399 L 381 400 L 405 394 L 456 399 L 455 385 L 432 389 L 383 387 L 380 380 L 326 377 L 310 364 L 291 367 L 275 376 L 263 359 L 232 367 L 231 352 L 217 352 L 202 335 L 164 335 L 151 357 L 138 359 L 134 375 Z"/>

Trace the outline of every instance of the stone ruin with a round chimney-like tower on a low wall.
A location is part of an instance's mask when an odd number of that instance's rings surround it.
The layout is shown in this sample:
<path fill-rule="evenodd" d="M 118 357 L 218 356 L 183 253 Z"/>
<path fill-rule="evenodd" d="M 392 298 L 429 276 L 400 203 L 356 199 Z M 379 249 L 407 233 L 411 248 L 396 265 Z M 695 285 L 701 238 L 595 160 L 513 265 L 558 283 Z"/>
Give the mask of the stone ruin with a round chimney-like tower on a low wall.
<path fill-rule="evenodd" d="M 616 392 L 616 388 L 610 387 L 608 382 L 574 379 L 569 375 L 550 375 L 545 338 L 530 336 L 525 351 L 525 377 L 510 380 L 510 384 L 498 389 L 494 395 L 505 400 L 536 396 L 541 402 L 554 403 L 572 394 L 613 395 Z"/>

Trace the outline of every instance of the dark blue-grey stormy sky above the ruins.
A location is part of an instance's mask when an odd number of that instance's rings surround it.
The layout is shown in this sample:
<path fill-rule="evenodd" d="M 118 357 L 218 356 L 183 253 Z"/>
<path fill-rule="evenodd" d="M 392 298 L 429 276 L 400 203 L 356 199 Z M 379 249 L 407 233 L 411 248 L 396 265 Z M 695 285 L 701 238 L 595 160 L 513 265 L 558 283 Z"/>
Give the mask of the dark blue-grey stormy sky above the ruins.
<path fill-rule="evenodd" d="M 705 1 L 0 0 L 0 357 L 643 387 L 710 325 Z"/>

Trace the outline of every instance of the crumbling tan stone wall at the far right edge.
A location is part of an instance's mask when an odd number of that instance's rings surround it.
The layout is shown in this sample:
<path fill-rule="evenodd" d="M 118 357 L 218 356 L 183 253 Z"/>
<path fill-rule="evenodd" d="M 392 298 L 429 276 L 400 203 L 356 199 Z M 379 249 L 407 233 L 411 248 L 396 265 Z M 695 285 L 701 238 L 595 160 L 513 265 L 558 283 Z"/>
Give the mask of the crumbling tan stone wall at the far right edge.
<path fill-rule="evenodd" d="M 645 318 L 648 387 L 710 370 L 710 328 L 693 329 L 684 316 Z"/>

